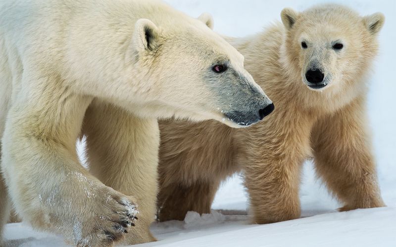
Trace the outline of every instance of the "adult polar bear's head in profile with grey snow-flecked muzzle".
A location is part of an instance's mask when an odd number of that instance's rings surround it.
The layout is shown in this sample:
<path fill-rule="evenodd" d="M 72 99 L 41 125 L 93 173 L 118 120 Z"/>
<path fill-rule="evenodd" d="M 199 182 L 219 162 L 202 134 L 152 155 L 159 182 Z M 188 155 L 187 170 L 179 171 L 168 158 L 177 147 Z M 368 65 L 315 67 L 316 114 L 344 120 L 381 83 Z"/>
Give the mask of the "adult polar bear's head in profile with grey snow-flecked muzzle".
<path fill-rule="evenodd" d="M 210 15 L 166 18 L 135 25 L 128 59 L 138 64 L 145 85 L 140 114 L 241 127 L 272 112 L 271 100 L 244 69 L 244 57 L 211 30 Z"/>

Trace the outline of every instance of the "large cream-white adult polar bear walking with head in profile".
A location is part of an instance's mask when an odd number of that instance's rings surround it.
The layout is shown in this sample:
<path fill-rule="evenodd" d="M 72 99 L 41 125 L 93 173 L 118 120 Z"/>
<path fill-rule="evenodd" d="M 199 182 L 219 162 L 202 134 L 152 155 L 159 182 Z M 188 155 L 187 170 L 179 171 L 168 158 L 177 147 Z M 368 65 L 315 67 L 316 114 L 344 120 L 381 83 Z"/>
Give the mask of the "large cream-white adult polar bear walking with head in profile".
<path fill-rule="evenodd" d="M 273 109 L 199 19 L 160 1 L 0 3 L 1 228 L 7 187 L 24 220 L 78 246 L 153 240 L 156 118 L 239 127 Z M 78 162 L 81 132 L 99 179 Z"/>

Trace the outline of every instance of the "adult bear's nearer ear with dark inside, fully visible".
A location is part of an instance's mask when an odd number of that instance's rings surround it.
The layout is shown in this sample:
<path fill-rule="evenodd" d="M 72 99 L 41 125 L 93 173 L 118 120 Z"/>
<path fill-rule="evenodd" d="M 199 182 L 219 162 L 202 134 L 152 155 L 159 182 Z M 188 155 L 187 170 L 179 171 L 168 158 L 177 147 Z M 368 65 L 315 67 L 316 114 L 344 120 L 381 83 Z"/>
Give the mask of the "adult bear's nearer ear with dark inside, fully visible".
<path fill-rule="evenodd" d="M 158 28 L 148 19 L 139 19 L 135 24 L 132 43 L 137 51 L 153 51 L 157 45 Z"/>

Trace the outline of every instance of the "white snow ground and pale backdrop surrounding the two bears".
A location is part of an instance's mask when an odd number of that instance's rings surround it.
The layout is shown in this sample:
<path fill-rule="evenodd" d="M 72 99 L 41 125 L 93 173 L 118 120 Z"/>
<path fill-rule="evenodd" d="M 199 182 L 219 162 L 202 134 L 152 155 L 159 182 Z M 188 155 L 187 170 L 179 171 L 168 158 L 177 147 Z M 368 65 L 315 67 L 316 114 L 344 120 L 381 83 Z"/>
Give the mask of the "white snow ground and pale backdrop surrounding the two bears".
<path fill-rule="evenodd" d="M 209 12 L 215 20 L 215 31 L 242 37 L 259 32 L 273 20 L 280 20 L 284 7 L 303 10 L 322 0 L 168 0 L 174 7 L 199 16 Z M 326 1 L 329 2 L 329 1 Z M 242 179 L 236 175 L 219 190 L 209 215 L 191 212 L 185 221 L 156 223 L 152 231 L 158 242 L 141 245 L 202 246 L 268 246 L 268 247 L 396 247 L 396 1 L 337 0 L 361 14 L 383 12 L 386 22 L 380 34 L 381 51 L 371 77 L 369 97 L 370 123 L 378 163 L 384 208 L 337 212 L 340 206 L 329 196 L 321 181 L 315 179 L 313 166 L 304 166 L 300 190 L 302 218 L 268 225 L 249 225 L 247 194 Z M 199 200 L 199 199 L 198 199 Z M 62 239 L 33 231 L 23 223 L 5 228 L 7 246 L 64 246 Z"/>

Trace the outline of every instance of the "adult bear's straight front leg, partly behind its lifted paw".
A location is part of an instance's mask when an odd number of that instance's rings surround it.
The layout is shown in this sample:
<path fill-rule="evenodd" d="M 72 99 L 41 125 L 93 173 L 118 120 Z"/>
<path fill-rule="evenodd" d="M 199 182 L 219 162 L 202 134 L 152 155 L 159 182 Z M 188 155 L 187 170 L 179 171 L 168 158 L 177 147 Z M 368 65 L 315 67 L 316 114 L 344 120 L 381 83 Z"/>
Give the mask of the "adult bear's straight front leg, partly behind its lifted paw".
<path fill-rule="evenodd" d="M 90 171 L 105 185 L 139 202 L 139 224 L 123 244 L 155 241 L 149 226 L 155 218 L 159 130 L 155 119 L 138 119 L 110 104 L 94 101 L 87 110 Z"/>

